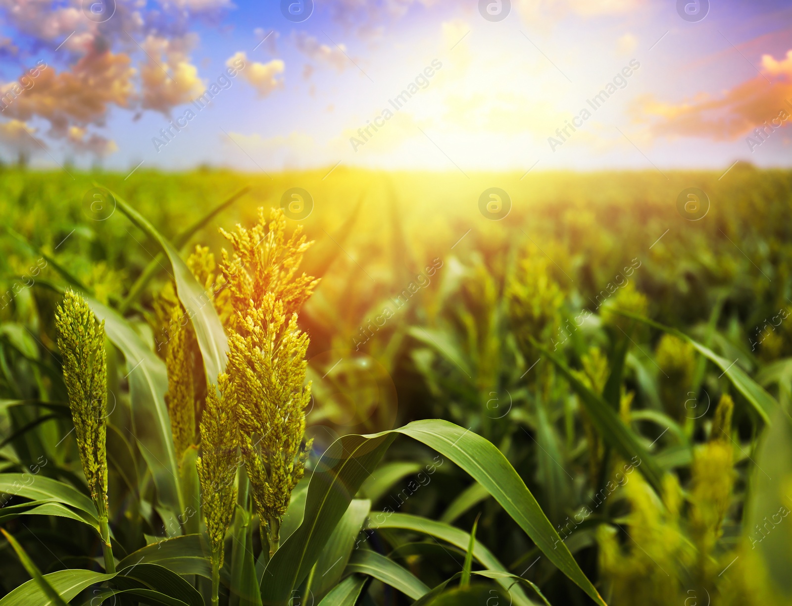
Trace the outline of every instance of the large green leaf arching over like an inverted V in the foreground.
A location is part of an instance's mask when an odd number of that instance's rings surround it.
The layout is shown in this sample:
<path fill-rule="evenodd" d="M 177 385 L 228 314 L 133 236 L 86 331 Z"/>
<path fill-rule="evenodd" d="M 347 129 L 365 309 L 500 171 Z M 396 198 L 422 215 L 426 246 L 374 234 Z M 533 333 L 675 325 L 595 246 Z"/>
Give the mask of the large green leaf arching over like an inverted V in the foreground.
<path fill-rule="evenodd" d="M 440 419 L 415 421 L 400 429 L 370 436 L 343 436 L 331 444 L 311 476 L 303 524 L 276 551 L 265 569 L 261 580 L 265 606 L 284 604 L 292 589 L 303 582 L 352 501 L 352 495 L 371 475 L 396 434 L 420 441 L 469 473 L 512 516 L 550 562 L 592 600 L 604 606 L 602 597 L 583 574 L 508 459 L 488 440 Z M 463 548 L 466 546 L 464 543 Z"/>

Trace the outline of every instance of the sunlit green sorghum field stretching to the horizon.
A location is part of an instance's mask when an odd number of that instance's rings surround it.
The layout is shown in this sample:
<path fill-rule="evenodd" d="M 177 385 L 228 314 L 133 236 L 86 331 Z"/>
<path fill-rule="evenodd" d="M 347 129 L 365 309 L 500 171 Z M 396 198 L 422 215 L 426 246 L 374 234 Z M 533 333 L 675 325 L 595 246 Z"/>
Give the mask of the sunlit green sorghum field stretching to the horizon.
<path fill-rule="evenodd" d="M 5 168 L 0 216 L 0 606 L 792 597 L 792 171 Z"/>

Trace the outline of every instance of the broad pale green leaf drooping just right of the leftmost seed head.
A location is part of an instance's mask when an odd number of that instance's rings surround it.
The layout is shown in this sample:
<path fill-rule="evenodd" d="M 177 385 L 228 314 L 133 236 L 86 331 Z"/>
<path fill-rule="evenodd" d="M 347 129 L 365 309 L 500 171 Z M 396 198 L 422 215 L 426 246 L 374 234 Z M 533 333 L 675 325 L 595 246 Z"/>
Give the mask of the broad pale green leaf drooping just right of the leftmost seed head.
<path fill-rule="evenodd" d="M 107 337 L 127 359 L 132 415 L 130 436 L 137 440 L 140 454 L 151 471 L 158 500 L 171 512 L 181 513 L 185 508 L 177 480 L 179 466 L 165 403 L 168 391 L 165 363 L 120 314 L 95 299 L 86 300 L 97 318 L 105 321 Z"/>

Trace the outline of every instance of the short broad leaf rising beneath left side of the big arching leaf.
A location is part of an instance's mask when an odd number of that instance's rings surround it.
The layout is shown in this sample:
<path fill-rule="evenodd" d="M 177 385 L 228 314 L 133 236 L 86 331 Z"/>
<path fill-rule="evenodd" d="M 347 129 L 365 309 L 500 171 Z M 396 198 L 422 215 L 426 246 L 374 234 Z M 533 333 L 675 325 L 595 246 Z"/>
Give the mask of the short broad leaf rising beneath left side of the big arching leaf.
<path fill-rule="evenodd" d="M 329 592 L 344 574 L 352 550 L 356 548 L 356 539 L 360 529 L 371 512 L 371 501 L 368 499 L 352 499 L 341 520 L 333 529 L 322 554 L 319 555 L 308 589 L 317 600 Z"/>

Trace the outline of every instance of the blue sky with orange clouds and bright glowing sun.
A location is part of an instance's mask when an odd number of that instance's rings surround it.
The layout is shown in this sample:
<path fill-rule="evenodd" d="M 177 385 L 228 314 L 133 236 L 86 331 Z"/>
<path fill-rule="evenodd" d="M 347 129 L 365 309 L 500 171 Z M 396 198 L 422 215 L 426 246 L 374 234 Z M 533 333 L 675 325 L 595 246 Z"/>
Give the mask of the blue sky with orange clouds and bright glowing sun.
<path fill-rule="evenodd" d="M 0 158 L 790 166 L 790 34 L 778 0 L 0 0 Z"/>

